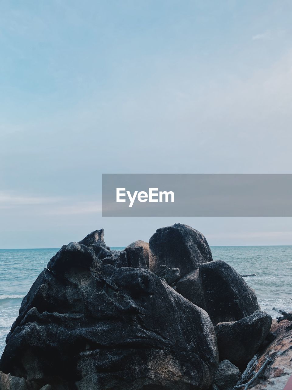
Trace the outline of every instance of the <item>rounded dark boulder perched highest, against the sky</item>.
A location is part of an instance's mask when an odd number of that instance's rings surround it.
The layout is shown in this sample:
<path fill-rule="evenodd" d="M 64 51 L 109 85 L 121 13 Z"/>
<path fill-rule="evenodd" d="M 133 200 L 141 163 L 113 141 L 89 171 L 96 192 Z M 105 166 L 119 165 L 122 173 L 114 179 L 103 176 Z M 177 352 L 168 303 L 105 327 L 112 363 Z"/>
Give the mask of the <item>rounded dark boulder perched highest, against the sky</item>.
<path fill-rule="evenodd" d="M 212 261 L 211 249 L 206 238 L 188 225 L 175 223 L 157 229 L 150 238 L 150 270 L 157 271 L 160 264 L 179 268 L 181 277 Z"/>

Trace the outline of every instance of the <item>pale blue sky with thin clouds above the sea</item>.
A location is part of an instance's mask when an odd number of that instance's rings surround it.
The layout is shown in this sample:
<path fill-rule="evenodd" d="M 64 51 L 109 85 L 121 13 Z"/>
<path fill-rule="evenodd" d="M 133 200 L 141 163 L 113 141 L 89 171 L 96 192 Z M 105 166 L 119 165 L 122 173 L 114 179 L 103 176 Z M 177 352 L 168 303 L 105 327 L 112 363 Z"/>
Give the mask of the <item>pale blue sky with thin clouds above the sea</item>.
<path fill-rule="evenodd" d="M 291 245 L 292 218 L 102 218 L 102 173 L 292 173 L 290 1 L 3 0 L 0 248 L 176 222 Z"/>

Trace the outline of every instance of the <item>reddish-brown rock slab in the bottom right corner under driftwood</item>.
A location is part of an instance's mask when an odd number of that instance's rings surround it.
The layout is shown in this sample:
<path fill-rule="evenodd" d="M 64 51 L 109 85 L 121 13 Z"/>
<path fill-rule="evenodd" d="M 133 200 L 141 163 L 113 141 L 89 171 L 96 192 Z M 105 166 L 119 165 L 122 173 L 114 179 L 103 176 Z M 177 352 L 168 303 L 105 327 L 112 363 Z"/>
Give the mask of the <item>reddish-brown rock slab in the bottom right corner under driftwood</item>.
<path fill-rule="evenodd" d="M 259 358 L 260 367 L 269 356 L 272 359 L 264 376 L 266 379 L 255 381 L 250 388 L 254 390 L 283 390 L 292 375 L 292 331 L 286 332 L 288 321 L 277 323 L 273 320 L 271 331 L 276 334 L 276 339 L 266 346 Z"/>

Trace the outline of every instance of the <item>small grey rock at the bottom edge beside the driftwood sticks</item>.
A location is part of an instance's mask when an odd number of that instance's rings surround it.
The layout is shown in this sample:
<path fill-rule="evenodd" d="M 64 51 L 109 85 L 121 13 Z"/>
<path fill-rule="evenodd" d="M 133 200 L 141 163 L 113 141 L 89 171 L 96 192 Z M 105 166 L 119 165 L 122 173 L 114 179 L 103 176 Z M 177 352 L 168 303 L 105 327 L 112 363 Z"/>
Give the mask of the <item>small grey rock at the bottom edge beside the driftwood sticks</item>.
<path fill-rule="evenodd" d="M 229 360 L 222 360 L 215 373 L 212 390 L 232 390 L 239 378 L 239 369 Z"/>

